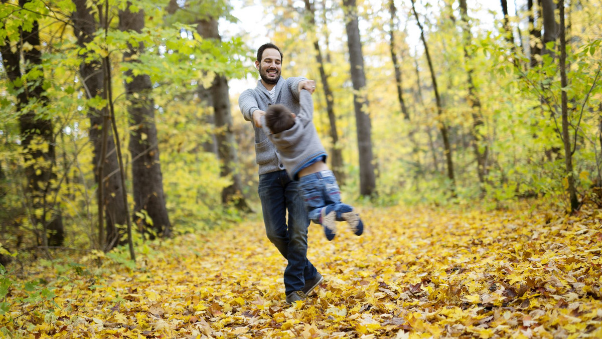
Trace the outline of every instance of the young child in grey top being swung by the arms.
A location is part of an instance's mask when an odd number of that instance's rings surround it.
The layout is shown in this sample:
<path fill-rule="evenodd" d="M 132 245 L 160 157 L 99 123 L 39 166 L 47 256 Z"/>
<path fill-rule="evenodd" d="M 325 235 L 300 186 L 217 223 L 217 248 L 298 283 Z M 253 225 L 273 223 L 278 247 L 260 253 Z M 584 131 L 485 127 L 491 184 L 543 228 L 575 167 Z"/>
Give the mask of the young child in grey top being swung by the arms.
<path fill-rule="evenodd" d="M 326 165 L 326 151 L 312 121 L 314 104 L 307 90 L 299 93 L 299 115 L 284 105 L 270 105 L 262 117 L 262 128 L 276 146 L 277 155 L 299 190 L 309 219 L 324 228 L 328 240 L 336 221 L 347 221 L 353 233 L 361 235 L 364 223 L 353 207 L 341 203 L 337 179 Z"/>

